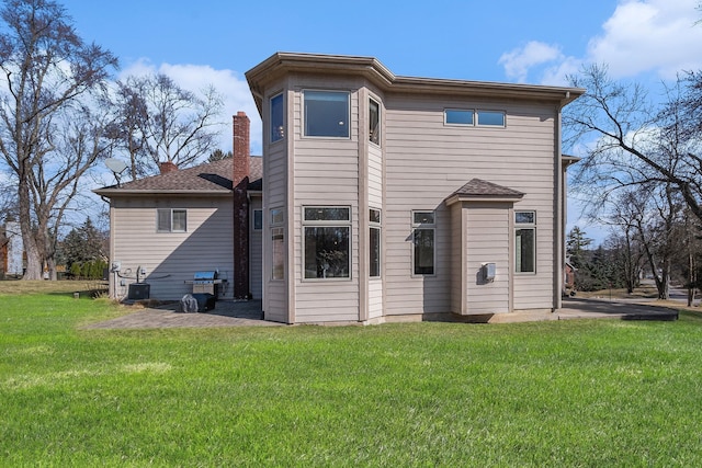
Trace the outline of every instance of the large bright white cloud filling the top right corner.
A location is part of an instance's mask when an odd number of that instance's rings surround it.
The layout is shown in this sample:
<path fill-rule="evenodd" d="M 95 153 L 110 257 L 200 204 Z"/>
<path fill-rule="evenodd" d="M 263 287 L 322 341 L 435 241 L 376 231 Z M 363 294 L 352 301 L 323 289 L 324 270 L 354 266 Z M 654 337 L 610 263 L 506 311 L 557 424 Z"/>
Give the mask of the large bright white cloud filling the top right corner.
<path fill-rule="evenodd" d="M 608 64 L 614 78 L 653 71 L 661 79 L 702 67 L 699 0 L 626 0 L 602 25 L 588 61 Z"/>

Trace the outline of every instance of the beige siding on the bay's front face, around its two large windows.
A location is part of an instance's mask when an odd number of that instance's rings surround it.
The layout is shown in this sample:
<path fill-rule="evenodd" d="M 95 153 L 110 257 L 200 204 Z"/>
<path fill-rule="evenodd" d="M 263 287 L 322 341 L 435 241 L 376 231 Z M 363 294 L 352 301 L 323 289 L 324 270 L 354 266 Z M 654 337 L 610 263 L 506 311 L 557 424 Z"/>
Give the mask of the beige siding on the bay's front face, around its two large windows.
<path fill-rule="evenodd" d="M 347 83 L 352 84 L 352 83 Z M 329 89 L 328 84 L 306 85 L 305 89 Z M 352 90 L 335 83 L 335 90 Z M 304 137 L 301 127 L 302 89 L 295 93 L 295 148 L 293 175 L 293 246 L 295 279 L 295 321 L 358 321 L 359 290 L 359 147 L 358 98 L 351 93 L 350 138 Z M 350 278 L 304 278 L 303 207 L 313 205 L 351 207 L 351 270 Z M 365 216 L 365 214 L 364 214 Z"/>

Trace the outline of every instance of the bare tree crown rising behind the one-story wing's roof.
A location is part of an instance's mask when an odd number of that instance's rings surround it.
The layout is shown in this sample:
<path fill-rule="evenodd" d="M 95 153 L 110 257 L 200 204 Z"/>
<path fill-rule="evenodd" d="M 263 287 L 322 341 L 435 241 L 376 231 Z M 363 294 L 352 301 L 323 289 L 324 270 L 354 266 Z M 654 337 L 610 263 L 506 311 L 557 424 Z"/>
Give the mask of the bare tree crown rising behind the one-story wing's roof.
<path fill-rule="evenodd" d="M 118 85 L 124 104 L 122 145 L 133 178 L 157 173 L 162 162 L 191 165 L 212 152 L 223 109 L 214 88 L 197 95 L 162 73 L 129 77 Z"/>

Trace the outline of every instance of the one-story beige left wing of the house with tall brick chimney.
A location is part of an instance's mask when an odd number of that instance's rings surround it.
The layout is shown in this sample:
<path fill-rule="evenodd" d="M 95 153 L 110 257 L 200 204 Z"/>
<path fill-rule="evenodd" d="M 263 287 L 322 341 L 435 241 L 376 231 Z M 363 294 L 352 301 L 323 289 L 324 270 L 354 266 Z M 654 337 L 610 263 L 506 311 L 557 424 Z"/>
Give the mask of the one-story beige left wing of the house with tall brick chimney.
<path fill-rule="evenodd" d="M 110 198 L 112 297 L 126 298 L 139 281 L 151 298 L 180 299 L 196 272 L 217 271 L 220 298 L 261 298 L 261 263 L 249 260 L 261 256 L 261 158 L 249 156 L 244 113 L 234 116 L 233 152 L 95 191 Z"/>

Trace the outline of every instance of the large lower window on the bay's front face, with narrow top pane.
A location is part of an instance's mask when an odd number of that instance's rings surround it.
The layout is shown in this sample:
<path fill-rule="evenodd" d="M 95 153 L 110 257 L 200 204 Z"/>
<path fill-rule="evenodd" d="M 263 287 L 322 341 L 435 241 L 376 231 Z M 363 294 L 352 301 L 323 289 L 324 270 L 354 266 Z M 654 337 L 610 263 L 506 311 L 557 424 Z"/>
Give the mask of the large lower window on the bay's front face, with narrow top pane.
<path fill-rule="evenodd" d="M 351 208 L 303 208 L 305 278 L 351 277 Z"/>

